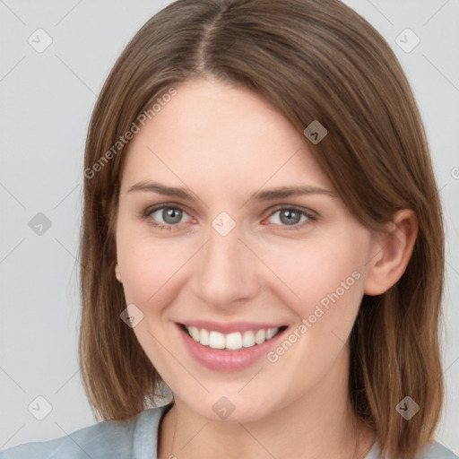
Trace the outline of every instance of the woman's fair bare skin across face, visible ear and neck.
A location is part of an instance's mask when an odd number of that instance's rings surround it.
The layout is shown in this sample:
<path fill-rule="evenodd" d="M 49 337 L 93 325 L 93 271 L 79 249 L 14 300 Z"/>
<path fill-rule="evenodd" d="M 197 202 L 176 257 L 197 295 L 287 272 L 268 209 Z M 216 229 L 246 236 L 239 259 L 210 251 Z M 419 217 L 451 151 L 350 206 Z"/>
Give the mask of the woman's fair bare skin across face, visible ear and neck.
<path fill-rule="evenodd" d="M 337 195 L 250 201 L 255 191 L 278 186 L 334 190 L 307 139 L 259 95 L 212 78 L 177 90 L 129 144 L 116 227 L 117 280 L 126 304 L 143 313 L 135 336 L 175 398 L 160 425 L 159 457 L 350 458 L 356 418 L 348 339 L 363 294 L 382 293 L 402 276 L 415 217 L 398 212 L 399 228 L 381 236 Z M 186 187 L 195 201 L 128 192 L 142 181 Z M 168 225 L 162 210 L 143 218 L 154 204 L 180 206 L 181 220 Z M 291 230 L 276 212 L 280 204 L 313 212 L 316 220 L 297 217 L 299 230 Z M 236 222 L 224 237 L 212 228 L 221 212 Z M 293 330 L 354 272 L 359 280 L 275 362 L 214 371 L 179 340 L 175 323 L 192 319 Z M 227 420 L 212 410 L 223 395 L 235 406 Z M 374 433 L 362 423 L 356 428 L 365 454 Z"/>

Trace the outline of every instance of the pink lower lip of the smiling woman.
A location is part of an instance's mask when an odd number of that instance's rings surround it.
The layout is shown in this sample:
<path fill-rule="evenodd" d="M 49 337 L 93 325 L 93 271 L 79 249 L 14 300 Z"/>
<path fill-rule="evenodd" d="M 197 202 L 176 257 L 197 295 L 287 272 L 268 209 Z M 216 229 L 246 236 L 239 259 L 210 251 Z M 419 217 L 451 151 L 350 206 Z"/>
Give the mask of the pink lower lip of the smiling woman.
<path fill-rule="evenodd" d="M 208 346 L 203 346 L 199 342 L 195 342 L 181 325 L 176 325 L 178 333 L 182 336 L 186 349 L 192 357 L 204 367 L 218 371 L 238 371 L 251 367 L 271 351 L 287 331 L 287 328 L 285 328 L 271 340 L 255 344 L 255 346 L 250 348 L 242 348 L 239 351 L 224 351 L 221 349 L 212 349 Z"/>

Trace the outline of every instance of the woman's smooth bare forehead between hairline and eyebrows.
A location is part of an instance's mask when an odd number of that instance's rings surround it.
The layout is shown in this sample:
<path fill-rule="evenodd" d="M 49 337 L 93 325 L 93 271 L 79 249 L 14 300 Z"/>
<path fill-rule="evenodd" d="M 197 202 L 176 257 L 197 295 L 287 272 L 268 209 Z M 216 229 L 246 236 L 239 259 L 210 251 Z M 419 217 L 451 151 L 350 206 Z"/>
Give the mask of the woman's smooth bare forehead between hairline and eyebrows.
<path fill-rule="evenodd" d="M 331 188 L 307 139 L 260 95 L 213 79 L 175 88 L 129 143 L 125 188 L 154 178 L 186 178 L 216 190 L 253 190 L 268 180 Z"/>

